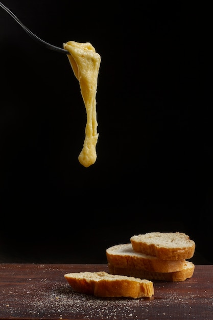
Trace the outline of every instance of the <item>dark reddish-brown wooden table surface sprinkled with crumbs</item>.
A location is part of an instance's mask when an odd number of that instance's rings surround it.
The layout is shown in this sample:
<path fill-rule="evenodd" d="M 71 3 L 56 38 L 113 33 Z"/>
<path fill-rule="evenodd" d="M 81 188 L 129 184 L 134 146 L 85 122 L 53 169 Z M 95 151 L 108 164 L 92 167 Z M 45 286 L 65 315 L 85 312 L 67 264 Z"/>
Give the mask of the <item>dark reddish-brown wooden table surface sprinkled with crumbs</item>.
<path fill-rule="evenodd" d="M 103 264 L 0 264 L 0 319 L 213 319 L 213 265 L 191 279 L 155 281 L 152 298 L 96 298 L 74 292 L 64 275 L 108 271 Z"/>

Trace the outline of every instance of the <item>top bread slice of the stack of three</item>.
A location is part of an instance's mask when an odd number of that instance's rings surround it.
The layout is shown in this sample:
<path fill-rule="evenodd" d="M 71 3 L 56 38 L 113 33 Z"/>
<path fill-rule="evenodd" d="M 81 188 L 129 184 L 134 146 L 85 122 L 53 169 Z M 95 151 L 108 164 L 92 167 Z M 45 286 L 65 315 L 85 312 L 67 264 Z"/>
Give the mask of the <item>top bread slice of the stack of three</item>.
<path fill-rule="evenodd" d="M 195 252 L 195 242 L 180 232 L 150 232 L 133 236 L 130 241 L 134 251 L 162 260 L 190 259 Z"/>

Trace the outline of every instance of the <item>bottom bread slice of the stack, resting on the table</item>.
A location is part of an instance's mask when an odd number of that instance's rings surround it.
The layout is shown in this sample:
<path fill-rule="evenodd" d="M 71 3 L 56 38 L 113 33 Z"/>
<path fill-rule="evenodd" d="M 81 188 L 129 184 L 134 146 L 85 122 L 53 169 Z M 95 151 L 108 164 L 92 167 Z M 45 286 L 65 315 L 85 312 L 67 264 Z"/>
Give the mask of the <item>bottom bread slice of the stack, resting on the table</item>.
<path fill-rule="evenodd" d="M 190 261 L 185 261 L 183 269 L 176 272 L 152 272 L 144 269 L 135 269 L 135 268 L 121 268 L 116 267 L 112 264 L 108 264 L 109 272 L 112 275 L 123 275 L 128 277 L 136 277 L 141 279 L 148 280 L 160 280 L 160 281 L 170 281 L 170 282 L 179 282 L 185 281 L 188 278 L 193 276 L 195 265 Z"/>

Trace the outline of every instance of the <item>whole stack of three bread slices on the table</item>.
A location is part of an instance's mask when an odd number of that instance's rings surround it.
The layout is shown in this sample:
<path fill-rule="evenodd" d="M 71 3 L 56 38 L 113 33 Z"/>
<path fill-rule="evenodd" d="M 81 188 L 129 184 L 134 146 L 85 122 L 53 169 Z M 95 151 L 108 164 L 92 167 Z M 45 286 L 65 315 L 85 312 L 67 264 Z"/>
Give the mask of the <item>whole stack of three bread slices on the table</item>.
<path fill-rule="evenodd" d="M 106 249 L 109 273 L 148 280 L 184 281 L 195 265 L 187 261 L 195 242 L 180 232 L 151 232 L 132 236 L 130 243 Z"/>

